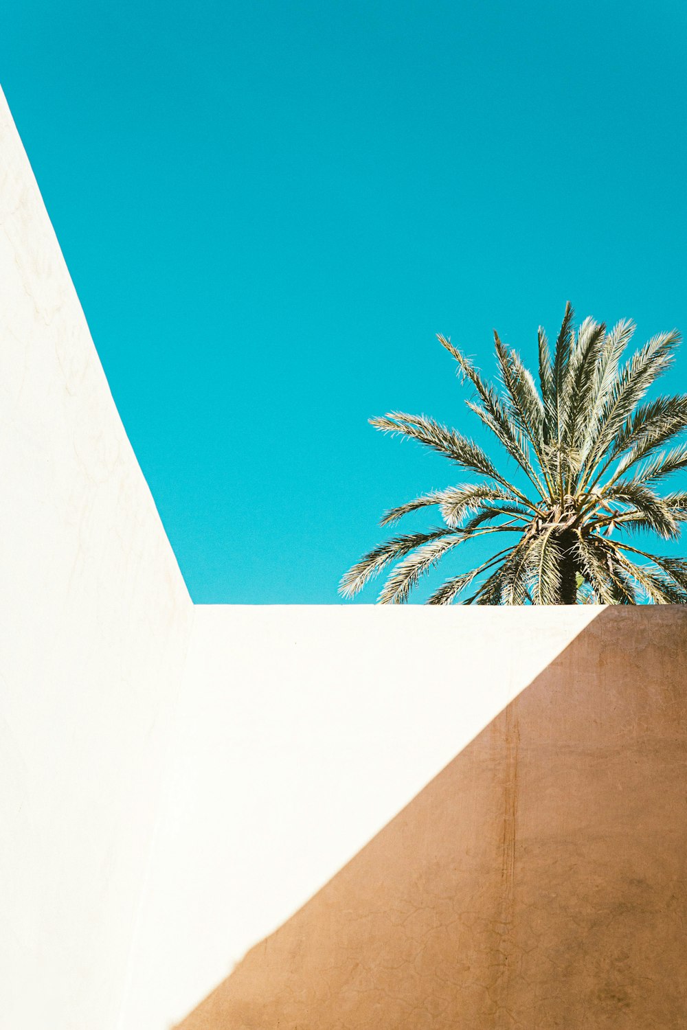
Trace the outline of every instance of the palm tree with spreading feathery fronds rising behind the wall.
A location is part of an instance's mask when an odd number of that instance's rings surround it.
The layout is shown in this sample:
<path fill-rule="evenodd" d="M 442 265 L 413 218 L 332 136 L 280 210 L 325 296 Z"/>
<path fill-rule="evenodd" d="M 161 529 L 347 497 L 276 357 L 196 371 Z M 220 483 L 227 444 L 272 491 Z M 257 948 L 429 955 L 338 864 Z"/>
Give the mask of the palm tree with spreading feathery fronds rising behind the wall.
<path fill-rule="evenodd" d="M 497 547 L 503 535 L 507 546 L 446 580 L 427 604 L 452 604 L 469 587 L 468 605 L 687 603 L 687 561 L 612 539 L 641 530 L 676 539 L 687 521 L 687 491 L 661 496 L 656 490 L 687 467 L 687 443 L 676 444 L 687 430 L 687 396 L 643 400 L 671 365 L 680 336 L 675 330 L 661 333 L 621 365 L 634 332 L 630 321 L 607 332 L 586 318 L 576 331 L 573 319 L 568 304 L 553 354 L 539 330 L 539 389 L 495 332 L 500 388 L 438 337 L 474 389 L 468 407 L 527 478 L 523 489 L 473 440 L 432 418 L 391 412 L 370 419 L 376 428 L 411 437 L 480 479 L 387 511 L 382 525 L 437 506 L 443 525 L 394 537 L 370 551 L 342 578 L 344 597 L 401 559 L 379 602 L 403 604 L 449 551 L 488 536 Z"/>

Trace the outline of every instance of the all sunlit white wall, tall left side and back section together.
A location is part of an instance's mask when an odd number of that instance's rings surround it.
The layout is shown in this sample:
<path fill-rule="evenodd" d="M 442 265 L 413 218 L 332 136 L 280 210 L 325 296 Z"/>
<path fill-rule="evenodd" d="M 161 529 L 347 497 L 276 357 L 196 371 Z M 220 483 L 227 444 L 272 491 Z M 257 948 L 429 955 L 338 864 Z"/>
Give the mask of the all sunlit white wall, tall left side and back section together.
<path fill-rule="evenodd" d="M 1 95 L 0 229 L 0 1027 L 165 1030 L 597 610 L 194 615 Z"/>

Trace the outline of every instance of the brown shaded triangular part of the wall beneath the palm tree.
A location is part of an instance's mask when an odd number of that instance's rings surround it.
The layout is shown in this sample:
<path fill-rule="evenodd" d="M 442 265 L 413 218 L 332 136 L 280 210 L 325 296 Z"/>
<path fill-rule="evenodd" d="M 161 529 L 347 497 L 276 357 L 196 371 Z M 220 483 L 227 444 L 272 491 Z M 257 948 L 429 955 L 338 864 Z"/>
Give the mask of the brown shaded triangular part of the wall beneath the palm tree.
<path fill-rule="evenodd" d="M 686 658 L 603 611 L 182 1030 L 687 1026 Z"/>

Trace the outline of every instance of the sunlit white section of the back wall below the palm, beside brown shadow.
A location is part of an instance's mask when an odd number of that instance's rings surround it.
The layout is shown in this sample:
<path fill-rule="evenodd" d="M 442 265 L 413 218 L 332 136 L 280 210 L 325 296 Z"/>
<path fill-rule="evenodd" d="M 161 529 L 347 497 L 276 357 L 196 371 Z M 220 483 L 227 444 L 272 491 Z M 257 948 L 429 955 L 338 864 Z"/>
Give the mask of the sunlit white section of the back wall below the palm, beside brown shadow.
<path fill-rule="evenodd" d="M 121 1030 L 181 1020 L 599 611 L 197 606 Z"/>

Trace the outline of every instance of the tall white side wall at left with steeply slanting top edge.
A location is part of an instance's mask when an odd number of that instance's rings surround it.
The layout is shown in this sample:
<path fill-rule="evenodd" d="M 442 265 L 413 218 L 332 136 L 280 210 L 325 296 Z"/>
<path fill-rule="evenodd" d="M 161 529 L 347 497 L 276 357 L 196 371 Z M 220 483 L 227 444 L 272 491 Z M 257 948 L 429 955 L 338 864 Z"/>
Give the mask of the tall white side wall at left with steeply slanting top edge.
<path fill-rule="evenodd" d="M 109 1030 L 193 617 L 0 94 L 0 1026 Z"/>

